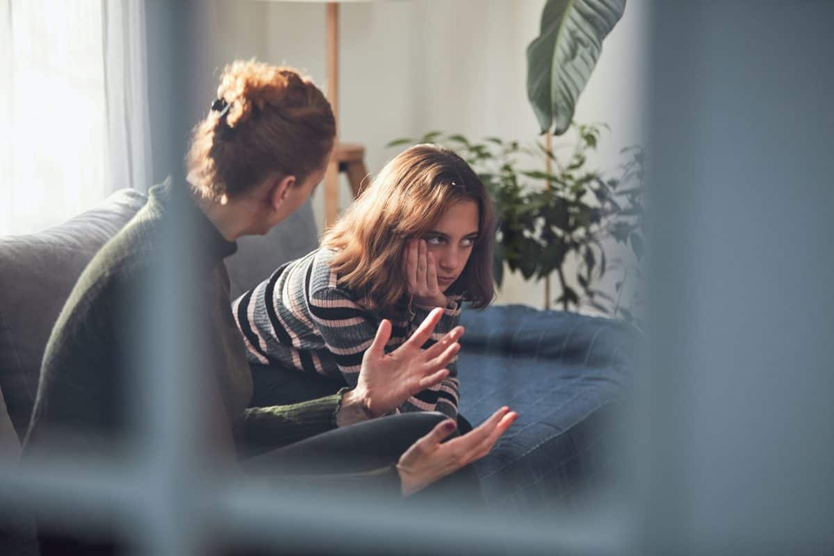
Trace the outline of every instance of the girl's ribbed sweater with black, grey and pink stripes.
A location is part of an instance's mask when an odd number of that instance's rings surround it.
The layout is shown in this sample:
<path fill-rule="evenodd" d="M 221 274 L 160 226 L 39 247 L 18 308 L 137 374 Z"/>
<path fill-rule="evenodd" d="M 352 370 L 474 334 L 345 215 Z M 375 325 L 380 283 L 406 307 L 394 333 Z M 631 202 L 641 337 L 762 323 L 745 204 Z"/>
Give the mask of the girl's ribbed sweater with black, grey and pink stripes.
<path fill-rule="evenodd" d="M 295 368 L 304 373 L 343 377 L 356 386 L 362 356 L 374 340 L 382 318 L 392 324 L 386 353 L 402 345 L 431 308 L 406 304 L 392 314 L 369 311 L 358 297 L 337 283 L 330 268 L 333 252 L 320 248 L 278 268 L 272 276 L 232 303 L 250 362 Z M 429 348 L 460 322 L 460 298 L 450 299 Z M 399 412 L 440 411 L 456 418 L 457 368 L 434 388 L 409 398 Z"/>

